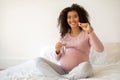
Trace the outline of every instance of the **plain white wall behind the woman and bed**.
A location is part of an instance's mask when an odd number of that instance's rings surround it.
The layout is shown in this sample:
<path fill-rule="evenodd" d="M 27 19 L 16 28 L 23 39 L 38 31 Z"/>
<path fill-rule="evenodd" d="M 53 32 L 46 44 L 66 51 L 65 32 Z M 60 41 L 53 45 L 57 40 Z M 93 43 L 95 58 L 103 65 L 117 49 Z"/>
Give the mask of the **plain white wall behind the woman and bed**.
<path fill-rule="evenodd" d="M 120 42 L 119 0 L 0 0 L 0 68 L 39 56 L 59 37 L 57 18 L 72 3 L 84 6 L 103 42 Z"/>

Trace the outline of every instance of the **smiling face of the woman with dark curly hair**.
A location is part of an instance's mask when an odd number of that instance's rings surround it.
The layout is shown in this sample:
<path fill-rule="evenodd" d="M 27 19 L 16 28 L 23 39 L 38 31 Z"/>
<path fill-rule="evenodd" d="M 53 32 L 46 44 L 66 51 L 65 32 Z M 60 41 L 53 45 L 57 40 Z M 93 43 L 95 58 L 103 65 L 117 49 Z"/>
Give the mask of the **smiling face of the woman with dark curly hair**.
<path fill-rule="evenodd" d="M 67 14 L 67 22 L 71 28 L 78 27 L 79 15 L 76 11 L 69 11 Z"/>

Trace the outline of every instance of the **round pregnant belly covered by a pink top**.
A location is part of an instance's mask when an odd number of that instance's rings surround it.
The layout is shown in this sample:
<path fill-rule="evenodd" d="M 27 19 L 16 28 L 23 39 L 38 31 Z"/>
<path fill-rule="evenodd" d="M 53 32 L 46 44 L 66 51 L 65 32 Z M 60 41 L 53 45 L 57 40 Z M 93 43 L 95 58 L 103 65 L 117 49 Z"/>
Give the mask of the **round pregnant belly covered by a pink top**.
<path fill-rule="evenodd" d="M 86 61 L 86 57 L 85 53 L 80 50 L 66 49 L 66 53 L 60 59 L 60 64 L 66 71 L 70 71 L 81 62 Z"/>

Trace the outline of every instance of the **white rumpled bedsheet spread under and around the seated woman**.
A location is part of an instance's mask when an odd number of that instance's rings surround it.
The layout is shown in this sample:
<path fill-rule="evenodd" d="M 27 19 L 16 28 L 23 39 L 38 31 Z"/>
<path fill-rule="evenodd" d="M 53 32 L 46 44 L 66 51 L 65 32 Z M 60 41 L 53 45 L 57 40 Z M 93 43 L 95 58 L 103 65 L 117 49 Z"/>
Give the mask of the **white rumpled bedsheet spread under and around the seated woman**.
<path fill-rule="evenodd" d="M 93 66 L 94 76 L 78 80 L 120 80 L 120 62 Z M 6 70 L 0 71 L 0 80 L 68 80 L 58 77 L 43 76 L 36 67 L 35 59 Z"/>

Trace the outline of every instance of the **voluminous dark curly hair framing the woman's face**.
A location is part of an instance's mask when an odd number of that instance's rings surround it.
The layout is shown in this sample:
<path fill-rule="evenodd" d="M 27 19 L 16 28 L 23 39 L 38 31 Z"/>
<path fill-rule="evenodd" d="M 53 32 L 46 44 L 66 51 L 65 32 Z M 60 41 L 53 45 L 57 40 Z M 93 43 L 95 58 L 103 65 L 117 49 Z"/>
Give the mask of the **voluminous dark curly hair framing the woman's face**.
<path fill-rule="evenodd" d="M 60 35 L 64 37 L 65 34 L 71 30 L 71 27 L 67 22 L 67 14 L 70 11 L 76 11 L 79 15 L 79 20 L 81 23 L 89 23 L 89 14 L 88 12 L 78 4 L 72 4 L 71 7 L 64 8 L 58 17 L 58 27 L 60 27 Z"/>

